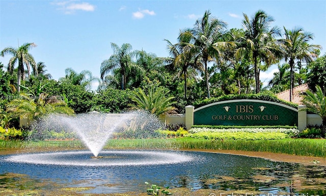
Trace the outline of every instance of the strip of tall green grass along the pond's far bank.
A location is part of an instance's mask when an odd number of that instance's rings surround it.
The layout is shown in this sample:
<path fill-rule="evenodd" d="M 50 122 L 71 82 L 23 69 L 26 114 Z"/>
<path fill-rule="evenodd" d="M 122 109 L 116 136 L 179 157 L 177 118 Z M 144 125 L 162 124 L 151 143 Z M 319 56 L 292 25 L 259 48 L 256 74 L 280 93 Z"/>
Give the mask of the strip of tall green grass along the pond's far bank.
<path fill-rule="evenodd" d="M 6 149 L 85 149 L 79 140 L 19 141 L 0 140 L 0 150 Z M 110 139 L 104 149 L 211 149 L 284 153 L 299 156 L 326 157 L 325 139 L 275 140 L 208 140 L 197 138 Z"/>

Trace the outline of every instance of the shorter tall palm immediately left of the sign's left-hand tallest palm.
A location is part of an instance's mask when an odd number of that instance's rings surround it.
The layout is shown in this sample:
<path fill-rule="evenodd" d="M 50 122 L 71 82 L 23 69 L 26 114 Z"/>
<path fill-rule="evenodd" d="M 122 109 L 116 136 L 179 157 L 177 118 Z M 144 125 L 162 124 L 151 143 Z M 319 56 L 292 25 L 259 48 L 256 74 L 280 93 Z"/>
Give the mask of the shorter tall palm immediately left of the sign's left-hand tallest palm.
<path fill-rule="evenodd" d="M 185 31 L 184 31 L 185 32 Z M 189 68 L 196 70 L 202 70 L 202 66 L 195 63 L 195 45 L 191 43 L 192 37 L 190 34 L 180 32 L 178 37 L 178 43 L 172 44 L 169 40 L 167 42 L 167 49 L 170 53 L 170 58 L 167 58 L 167 66 L 173 67 L 176 70 L 175 77 L 183 76 L 184 81 L 184 100 L 187 97 L 187 72 Z"/>

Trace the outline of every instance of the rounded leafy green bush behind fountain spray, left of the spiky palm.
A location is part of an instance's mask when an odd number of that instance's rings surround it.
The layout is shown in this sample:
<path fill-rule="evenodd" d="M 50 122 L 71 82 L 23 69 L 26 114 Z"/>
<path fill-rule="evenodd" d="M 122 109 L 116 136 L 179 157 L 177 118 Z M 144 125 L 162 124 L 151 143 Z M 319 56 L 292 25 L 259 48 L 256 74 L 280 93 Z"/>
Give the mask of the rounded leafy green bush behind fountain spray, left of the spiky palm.
<path fill-rule="evenodd" d="M 119 113 L 127 110 L 131 104 L 131 91 L 108 88 L 94 95 L 92 111 Z"/>

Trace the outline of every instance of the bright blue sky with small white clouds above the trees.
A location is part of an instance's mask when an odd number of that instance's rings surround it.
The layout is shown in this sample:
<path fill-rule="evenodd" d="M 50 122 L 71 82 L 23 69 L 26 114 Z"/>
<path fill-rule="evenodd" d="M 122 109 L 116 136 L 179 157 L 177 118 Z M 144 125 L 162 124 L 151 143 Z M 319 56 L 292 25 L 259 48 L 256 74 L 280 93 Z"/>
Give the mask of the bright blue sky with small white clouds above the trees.
<path fill-rule="evenodd" d="M 71 67 L 99 77 L 101 62 L 113 51 L 111 42 L 130 43 L 133 50 L 167 57 L 166 42 L 177 41 L 180 29 L 192 28 L 205 10 L 241 28 L 242 13 L 259 9 L 274 17 L 273 26 L 302 27 L 314 34 L 311 43 L 326 51 L 326 1 L 6 1 L 0 0 L 0 50 L 34 42 L 30 53 L 58 80 Z M 11 56 L 0 57 L 6 66 Z M 261 73 L 273 77 L 276 67 Z"/>

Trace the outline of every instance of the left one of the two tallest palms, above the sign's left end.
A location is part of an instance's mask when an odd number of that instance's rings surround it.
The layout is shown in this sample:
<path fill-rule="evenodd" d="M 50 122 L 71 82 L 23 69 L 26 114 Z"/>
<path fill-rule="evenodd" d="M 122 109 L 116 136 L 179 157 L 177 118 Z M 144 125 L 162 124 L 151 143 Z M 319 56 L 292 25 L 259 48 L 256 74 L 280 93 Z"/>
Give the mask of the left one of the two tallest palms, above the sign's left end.
<path fill-rule="evenodd" d="M 204 64 L 204 75 L 208 98 L 210 97 L 210 91 L 207 63 L 213 61 L 214 57 L 221 56 L 221 46 L 226 46 L 229 43 L 219 40 L 223 36 L 226 28 L 227 23 L 223 20 L 212 17 L 208 10 L 205 11 L 202 18 L 196 21 L 194 29 L 191 31 L 195 40 L 194 45 L 198 52 L 196 59 L 197 61 L 202 60 L 202 63 Z"/>

